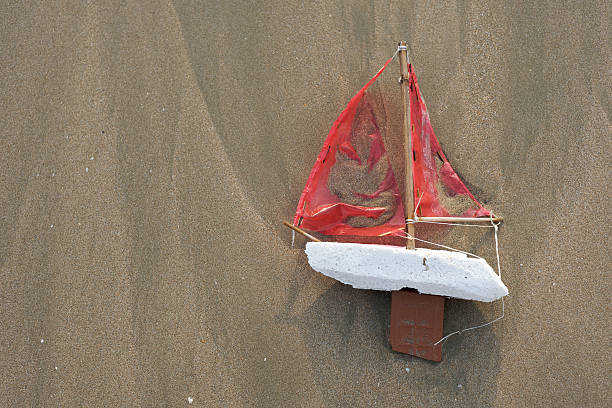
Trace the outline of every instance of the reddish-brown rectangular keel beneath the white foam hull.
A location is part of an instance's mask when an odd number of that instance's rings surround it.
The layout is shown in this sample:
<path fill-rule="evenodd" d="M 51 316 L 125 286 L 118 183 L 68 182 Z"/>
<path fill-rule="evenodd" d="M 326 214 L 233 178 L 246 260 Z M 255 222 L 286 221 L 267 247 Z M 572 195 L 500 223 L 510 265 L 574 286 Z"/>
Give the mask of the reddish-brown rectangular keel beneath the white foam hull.
<path fill-rule="evenodd" d="M 442 360 L 444 296 L 410 290 L 391 292 L 391 349 L 431 361 Z"/>

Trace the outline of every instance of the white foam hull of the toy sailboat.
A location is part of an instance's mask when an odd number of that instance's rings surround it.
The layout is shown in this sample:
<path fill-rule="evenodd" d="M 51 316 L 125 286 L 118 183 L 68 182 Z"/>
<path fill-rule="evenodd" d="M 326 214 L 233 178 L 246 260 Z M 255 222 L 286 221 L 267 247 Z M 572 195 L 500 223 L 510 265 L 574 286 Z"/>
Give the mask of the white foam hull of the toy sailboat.
<path fill-rule="evenodd" d="M 508 288 L 484 259 L 391 245 L 308 242 L 310 266 L 357 289 L 413 288 L 423 294 L 492 302 Z"/>

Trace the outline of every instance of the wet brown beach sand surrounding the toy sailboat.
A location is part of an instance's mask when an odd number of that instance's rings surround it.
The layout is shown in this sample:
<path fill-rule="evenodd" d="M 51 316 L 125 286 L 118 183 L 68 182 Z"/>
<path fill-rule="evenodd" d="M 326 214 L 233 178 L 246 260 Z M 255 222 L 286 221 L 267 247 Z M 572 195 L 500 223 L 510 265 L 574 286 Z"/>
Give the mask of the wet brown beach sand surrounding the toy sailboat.
<path fill-rule="evenodd" d="M 612 404 L 609 3 L 104 4 L 0 14 L 0 405 Z M 281 224 L 400 39 L 507 220 L 506 318 L 439 364 Z M 447 301 L 445 332 L 498 313 Z"/>

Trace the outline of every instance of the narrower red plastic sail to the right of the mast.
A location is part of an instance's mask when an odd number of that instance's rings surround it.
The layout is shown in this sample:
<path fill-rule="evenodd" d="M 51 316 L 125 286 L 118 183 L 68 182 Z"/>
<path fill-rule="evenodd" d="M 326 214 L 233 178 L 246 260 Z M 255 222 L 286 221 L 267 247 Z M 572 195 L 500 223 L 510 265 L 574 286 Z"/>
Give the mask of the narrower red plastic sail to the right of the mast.
<path fill-rule="evenodd" d="M 408 71 L 417 216 L 488 217 L 490 212 L 474 198 L 442 152 L 411 64 Z"/>

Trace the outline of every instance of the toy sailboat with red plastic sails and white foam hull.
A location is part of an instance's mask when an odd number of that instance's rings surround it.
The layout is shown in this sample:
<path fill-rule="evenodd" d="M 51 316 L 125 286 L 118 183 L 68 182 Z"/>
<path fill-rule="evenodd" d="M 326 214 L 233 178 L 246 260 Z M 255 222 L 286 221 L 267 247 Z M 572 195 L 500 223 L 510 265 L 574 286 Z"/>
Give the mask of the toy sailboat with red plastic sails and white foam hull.
<path fill-rule="evenodd" d="M 491 302 L 507 295 L 508 289 L 482 258 L 442 245 L 447 249 L 416 248 L 419 238 L 415 235 L 415 224 L 481 223 L 497 228 L 502 219 L 485 209 L 453 170 L 434 134 L 416 74 L 408 63 L 405 43 L 399 44 L 396 54 L 400 60 L 403 108 L 402 117 L 397 118 L 401 126 L 396 128 L 403 133 L 404 191 L 400 192 L 383 143 L 383 133 L 392 127 L 383 130 L 379 126 L 380 109 L 375 109 L 376 98 L 368 93 L 392 57 L 334 122 L 300 197 L 291 227 L 333 237 L 334 241 L 306 244 L 308 261 L 315 271 L 358 289 L 394 291 L 393 348 L 425 358 L 433 351 L 430 359 L 439 361 L 440 353 L 433 339 L 442 334 L 440 313 L 444 298 L 440 296 Z M 396 297 L 412 299 L 418 295 L 399 291 L 402 288 L 437 295 L 427 298 L 433 299 L 429 306 L 423 303 L 424 297 L 415 298 L 424 310 L 441 310 L 436 333 L 430 333 L 430 339 L 421 342 L 424 349 L 413 341 L 419 324 L 414 319 L 401 318 L 402 310 L 410 302 L 406 299 L 396 302 Z M 402 310 L 395 303 L 401 304 Z M 419 315 L 415 310 L 410 313 Z M 409 322 L 406 327 L 412 329 L 405 329 L 412 334 L 394 336 L 394 311 L 396 323 L 399 321 L 395 331 L 404 330 L 400 327 L 404 321 Z M 402 342 L 406 345 L 403 349 Z"/>

